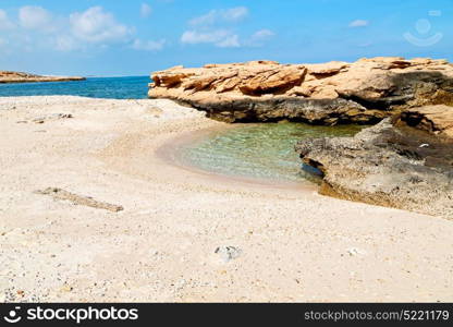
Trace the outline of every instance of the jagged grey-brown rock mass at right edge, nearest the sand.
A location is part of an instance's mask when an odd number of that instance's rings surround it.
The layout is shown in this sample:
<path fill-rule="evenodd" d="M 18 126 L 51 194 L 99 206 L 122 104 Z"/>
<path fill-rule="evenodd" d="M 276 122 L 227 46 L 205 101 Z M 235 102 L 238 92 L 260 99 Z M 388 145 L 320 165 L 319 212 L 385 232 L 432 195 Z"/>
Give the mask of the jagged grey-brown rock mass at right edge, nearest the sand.
<path fill-rule="evenodd" d="M 354 137 L 306 140 L 296 150 L 321 171 L 321 194 L 453 219 L 453 107 L 405 109 Z"/>

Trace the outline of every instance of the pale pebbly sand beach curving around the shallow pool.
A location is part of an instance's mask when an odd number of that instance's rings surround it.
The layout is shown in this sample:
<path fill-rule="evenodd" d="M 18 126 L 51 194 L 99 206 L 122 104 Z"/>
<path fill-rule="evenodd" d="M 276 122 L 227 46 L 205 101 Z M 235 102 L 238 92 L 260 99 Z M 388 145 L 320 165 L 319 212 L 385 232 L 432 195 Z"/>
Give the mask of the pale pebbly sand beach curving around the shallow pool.
<path fill-rule="evenodd" d="M 162 156 L 223 126 L 170 100 L 0 98 L 0 301 L 453 301 L 453 221 Z"/>

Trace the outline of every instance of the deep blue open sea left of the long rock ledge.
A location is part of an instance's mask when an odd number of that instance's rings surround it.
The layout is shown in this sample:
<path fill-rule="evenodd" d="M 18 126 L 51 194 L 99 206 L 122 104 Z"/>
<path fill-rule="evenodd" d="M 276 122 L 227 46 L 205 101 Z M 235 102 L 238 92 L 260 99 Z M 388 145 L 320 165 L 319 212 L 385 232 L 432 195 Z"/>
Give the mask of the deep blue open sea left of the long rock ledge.
<path fill-rule="evenodd" d="M 149 76 L 90 77 L 78 82 L 0 84 L 0 97 L 73 95 L 91 98 L 144 99 Z"/>

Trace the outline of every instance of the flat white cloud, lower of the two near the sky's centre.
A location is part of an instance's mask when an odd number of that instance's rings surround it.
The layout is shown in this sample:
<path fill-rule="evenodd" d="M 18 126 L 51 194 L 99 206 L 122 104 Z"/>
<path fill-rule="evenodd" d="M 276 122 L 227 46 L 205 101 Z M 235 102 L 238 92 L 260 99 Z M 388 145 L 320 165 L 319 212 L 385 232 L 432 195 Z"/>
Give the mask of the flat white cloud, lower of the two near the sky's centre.
<path fill-rule="evenodd" d="M 215 29 L 206 32 L 186 31 L 181 36 L 183 44 L 213 44 L 220 48 L 238 47 L 238 36 L 226 29 Z"/>

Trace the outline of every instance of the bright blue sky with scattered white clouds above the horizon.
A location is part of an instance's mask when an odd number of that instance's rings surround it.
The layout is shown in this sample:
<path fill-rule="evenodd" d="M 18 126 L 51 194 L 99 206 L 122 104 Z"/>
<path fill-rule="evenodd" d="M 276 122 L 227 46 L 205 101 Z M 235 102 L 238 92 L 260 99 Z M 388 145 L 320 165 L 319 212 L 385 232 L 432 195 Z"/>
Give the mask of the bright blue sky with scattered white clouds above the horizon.
<path fill-rule="evenodd" d="M 376 56 L 453 61 L 453 0 L 0 0 L 0 70 L 125 76 Z"/>

